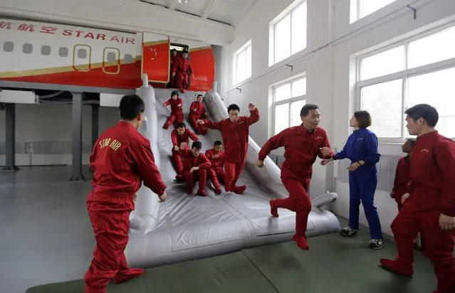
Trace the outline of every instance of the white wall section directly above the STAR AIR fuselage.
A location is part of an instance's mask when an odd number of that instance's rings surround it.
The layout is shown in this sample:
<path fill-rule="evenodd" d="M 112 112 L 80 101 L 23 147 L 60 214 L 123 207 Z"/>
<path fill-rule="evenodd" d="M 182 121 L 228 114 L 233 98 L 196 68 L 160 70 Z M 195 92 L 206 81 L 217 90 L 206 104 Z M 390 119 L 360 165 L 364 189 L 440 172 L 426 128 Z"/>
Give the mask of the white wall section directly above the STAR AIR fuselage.
<path fill-rule="evenodd" d="M 234 28 L 139 0 L 2 0 L 0 14 L 122 31 L 149 31 L 214 45 L 232 41 Z"/>

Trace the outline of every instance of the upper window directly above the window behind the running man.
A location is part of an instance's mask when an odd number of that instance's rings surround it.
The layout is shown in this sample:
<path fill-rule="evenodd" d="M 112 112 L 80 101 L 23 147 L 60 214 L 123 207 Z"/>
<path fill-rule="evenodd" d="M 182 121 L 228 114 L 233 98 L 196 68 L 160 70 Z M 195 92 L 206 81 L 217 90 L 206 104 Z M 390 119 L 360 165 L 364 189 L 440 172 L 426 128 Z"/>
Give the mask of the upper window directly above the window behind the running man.
<path fill-rule="evenodd" d="M 291 10 L 286 12 L 289 9 Z M 271 22 L 269 65 L 278 63 L 306 48 L 306 1 L 296 1 L 283 12 L 284 16 L 279 16 Z"/>

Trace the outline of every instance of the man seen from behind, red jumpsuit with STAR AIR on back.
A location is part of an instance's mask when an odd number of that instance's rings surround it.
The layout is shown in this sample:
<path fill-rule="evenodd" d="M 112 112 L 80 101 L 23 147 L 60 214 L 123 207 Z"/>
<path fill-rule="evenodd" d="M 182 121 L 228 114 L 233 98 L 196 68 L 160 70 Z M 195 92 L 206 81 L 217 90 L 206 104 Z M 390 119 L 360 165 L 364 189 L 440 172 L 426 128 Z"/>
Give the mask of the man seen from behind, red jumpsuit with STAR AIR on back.
<path fill-rule="evenodd" d="M 100 135 L 90 155 L 93 191 L 87 208 L 96 247 L 85 274 L 85 293 L 108 292 L 110 279 L 121 283 L 144 273 L 128 268 L 124 254 L 135 193 L 143 181 L 161 201 L 166 199 L 166 185 L 155 165 L 150 141 L 137 132 L 144 110 L 137 95 L 123 97 L 120 122 Z"/>

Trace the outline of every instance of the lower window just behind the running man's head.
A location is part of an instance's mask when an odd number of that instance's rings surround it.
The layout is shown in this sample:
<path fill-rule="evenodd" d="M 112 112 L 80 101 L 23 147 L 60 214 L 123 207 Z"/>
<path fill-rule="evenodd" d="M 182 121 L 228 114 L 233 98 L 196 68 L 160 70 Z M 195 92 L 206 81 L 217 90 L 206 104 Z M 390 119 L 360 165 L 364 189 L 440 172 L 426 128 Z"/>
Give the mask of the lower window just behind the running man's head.
<path fill-rule="evenodd" d="M 273 87 L 273 135 L 302 123 L 300 110 L 305 105 L 306 78 Z"/>

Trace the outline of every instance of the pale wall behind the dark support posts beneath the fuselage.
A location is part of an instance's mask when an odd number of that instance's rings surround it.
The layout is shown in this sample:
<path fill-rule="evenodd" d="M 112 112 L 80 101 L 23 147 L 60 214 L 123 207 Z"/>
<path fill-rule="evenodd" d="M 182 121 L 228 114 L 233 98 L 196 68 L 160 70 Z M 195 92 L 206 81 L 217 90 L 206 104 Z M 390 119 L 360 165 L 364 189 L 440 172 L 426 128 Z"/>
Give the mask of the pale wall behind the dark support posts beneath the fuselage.
<path fill-rule="evenodd" d="M 26 142 L 71 142 L 71 105 L 16 104 L 16 144 Z M 116 107 L 100 107 L 99 133 L 118 121 Z M 0 142 L 5 141 L 5 111 L 0 111 Z M 83 106 L 83 142 L 91 142 L 92 109 Z M 83 164 L 88 164 L 90 154 L 83 154 Z M 16 154 L 16 165 L 71 164 L 71 154 Z M 0 154 L 0 166 L 5 155 Z"/>

